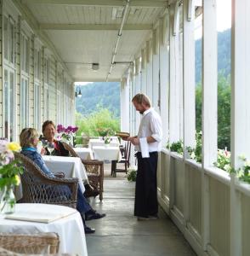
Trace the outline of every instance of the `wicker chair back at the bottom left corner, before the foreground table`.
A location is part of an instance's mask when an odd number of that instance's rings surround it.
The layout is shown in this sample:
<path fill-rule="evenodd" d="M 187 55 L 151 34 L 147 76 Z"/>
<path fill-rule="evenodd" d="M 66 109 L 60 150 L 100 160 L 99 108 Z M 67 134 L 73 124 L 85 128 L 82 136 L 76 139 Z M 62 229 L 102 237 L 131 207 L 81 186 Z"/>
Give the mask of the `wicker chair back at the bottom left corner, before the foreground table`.
<path fill-rule="evenodd" d="M 51 253 L 58 253 L 59 244 L 59 236 L 56 233 L 37 233 L 32 235 L 0 233 L 0 247 L 3 248 L 0 249 L 0 255 L 27 255 L 42 253 L 49 255 Z"/>

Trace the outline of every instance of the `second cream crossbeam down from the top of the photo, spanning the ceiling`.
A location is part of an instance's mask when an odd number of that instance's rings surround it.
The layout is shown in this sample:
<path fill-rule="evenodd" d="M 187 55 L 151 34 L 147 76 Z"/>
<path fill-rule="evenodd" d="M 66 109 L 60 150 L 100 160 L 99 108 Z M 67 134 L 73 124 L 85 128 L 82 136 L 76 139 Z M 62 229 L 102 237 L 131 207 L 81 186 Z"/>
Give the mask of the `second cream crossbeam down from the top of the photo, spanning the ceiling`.
<path fill-rule="evenodd" d="M 49 24 L 41 23 L 42 30 L 119 30 L 119 24 Z M 134 25 L 127 24 L 123 26 L 123 30 L 152 30 L 152 25 Z"/>

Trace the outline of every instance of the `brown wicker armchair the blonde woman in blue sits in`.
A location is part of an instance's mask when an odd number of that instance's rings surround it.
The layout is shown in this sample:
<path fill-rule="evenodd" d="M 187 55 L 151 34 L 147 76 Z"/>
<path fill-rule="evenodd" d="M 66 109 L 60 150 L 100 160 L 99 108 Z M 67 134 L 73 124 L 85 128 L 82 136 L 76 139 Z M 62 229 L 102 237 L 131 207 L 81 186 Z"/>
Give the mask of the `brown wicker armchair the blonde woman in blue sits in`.
<path fill-rule="evenodd" d="M 48 177 L 25 155 L 15 152 L 14 158 L 25 167 L 20 175 L 23 196 L 21 202 L 46 203 L 76 208 L 77 178 Z M 65 186 L 71 191 L 69 195 Z"/>

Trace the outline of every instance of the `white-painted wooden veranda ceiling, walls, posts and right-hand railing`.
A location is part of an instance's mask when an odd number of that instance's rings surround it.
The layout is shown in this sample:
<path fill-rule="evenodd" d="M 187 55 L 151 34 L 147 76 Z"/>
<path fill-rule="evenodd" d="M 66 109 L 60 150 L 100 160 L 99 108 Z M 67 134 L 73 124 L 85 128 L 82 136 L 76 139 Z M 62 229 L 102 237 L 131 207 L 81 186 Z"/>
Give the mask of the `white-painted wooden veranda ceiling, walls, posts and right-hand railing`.
<path fill-rule="evenodd" d="M 219 1 L 219 0 L 218 0 Z M 74 124 L 77 81 L 121 81 L 121 130 L 136 134 L 137 92 L 162 116 L 158 201 L 198 255 L 249 255 L 250 188 L 217 161 L 215 0 L 2 0 L 1 137 L 43 120 Z M 231 0 L 231 166 L 250 157 L 250 3 Z M 195 24 L 202 17 L 202 164 L 195 145 Z M 128 121 L 129 120 L 129 121 Z M 98 245 L 97 245 L 98 246 Z"/>

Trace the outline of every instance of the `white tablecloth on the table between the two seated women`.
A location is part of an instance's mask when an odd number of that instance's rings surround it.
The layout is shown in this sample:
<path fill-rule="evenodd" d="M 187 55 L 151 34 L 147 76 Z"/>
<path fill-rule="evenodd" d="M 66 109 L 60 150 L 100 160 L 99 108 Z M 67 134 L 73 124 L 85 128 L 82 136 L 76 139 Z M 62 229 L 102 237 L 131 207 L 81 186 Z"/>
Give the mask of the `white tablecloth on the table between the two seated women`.
<path fill-rule="evenodd" d="M 82 193 L 85 191 L 82 180 L 87 180 L 88 177 L 86 169 L 82 164 L 81 158 L 56 155 L 43 155 L 43 160 L 51 172 L 64 172 L 65 177 L 77 177 L 78 184 L 82 190 Z"/>

